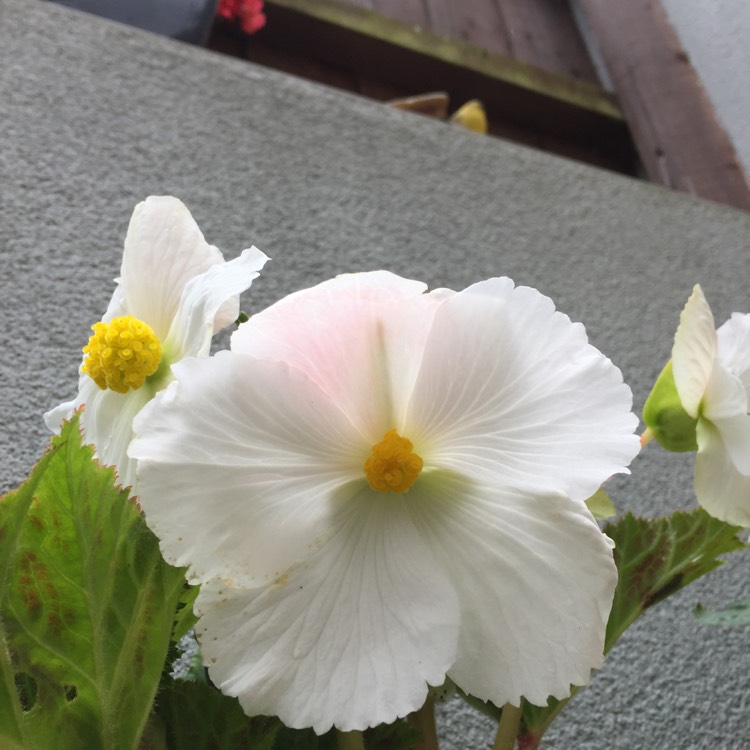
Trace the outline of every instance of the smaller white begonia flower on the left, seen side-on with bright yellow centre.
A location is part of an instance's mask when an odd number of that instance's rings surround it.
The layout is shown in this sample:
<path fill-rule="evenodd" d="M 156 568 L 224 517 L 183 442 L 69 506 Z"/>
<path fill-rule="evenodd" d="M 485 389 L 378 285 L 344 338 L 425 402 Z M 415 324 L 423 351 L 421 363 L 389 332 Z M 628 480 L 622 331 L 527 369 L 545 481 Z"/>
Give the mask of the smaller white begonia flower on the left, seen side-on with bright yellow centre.
<path fill-rule="evenodd" d="M 116 468 L 123 486 L 133 485 L 135 465 L 127 455 L 133 418 L 171 381 L 171 365 L 209 354 L 214 333 L 237 319 L 239 294 L 267 260 L 253 247 L 225 262 L 177 198 L 139 203 L 114 294 L 84 348 L 78 395 L 47 412 L 47 426 L 59 432 L 84 406 L 86 442 Z"/>

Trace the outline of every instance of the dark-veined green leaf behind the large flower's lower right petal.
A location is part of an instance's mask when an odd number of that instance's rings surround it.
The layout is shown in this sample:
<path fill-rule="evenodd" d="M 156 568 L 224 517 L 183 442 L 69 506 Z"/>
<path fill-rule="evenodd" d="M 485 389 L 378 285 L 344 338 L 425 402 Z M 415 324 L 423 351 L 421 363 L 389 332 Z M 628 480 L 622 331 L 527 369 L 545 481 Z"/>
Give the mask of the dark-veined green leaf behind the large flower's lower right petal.
<path fill-rule="evenodd" d="M 703 509 L 678 511 L 666 518 L 637 518 L 631 513 L 605 526 L 615 542 L 619 579 L 607 623 L 604 652 L 649 607 L 723 564 L 719 555 L 745 549 L 738 526 L 719 521 Z M 572 695 L 578 688 L 572 688 Z M 551 698 L 547 706 L 524 705 L 521 735 L 532 750 L 570 698 Z"/>

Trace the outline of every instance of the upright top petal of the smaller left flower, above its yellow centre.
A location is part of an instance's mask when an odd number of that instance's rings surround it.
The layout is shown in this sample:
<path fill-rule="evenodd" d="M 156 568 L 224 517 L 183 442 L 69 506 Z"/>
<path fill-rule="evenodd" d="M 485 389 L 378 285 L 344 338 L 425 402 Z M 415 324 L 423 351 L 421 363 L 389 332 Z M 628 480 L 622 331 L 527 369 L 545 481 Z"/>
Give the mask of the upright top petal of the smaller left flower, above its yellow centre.
<path fill-rule="evenodd" d="M 181 201 L 147 198 L 135 207 L 125 238 L 120 271 L 124 313 L 144 320 L 163 341 L 187 283 L 223 260 Z"/>

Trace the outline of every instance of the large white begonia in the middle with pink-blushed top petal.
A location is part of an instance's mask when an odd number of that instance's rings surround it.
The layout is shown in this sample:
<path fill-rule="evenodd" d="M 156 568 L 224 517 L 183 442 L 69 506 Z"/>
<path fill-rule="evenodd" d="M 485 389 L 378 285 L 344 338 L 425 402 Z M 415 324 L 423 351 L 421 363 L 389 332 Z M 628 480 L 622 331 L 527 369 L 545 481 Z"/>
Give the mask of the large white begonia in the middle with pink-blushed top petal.
<path fill-rule="evenodd" d="M 601 662 L 617 573 L 583 501 L 638 451 L 630 389 L 533 289 L 424 292 L 293 294 L 136 420 L 147 522 L 248 714 L 362 729 L 446 675 L 544 703 Z"/>

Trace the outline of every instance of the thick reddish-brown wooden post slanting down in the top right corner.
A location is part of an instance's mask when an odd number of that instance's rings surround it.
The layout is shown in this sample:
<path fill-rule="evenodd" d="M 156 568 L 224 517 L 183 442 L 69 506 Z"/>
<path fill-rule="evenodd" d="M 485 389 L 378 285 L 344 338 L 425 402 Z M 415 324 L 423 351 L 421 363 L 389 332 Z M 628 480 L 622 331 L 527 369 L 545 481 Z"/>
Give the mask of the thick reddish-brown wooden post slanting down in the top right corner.
<path fill-rule="evenodd" d="M 655 0 L 580 0 L 648 176 L 750 210 L 750 187 L 695 69 Z"/>

